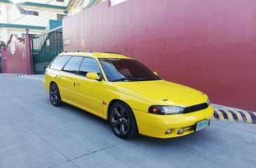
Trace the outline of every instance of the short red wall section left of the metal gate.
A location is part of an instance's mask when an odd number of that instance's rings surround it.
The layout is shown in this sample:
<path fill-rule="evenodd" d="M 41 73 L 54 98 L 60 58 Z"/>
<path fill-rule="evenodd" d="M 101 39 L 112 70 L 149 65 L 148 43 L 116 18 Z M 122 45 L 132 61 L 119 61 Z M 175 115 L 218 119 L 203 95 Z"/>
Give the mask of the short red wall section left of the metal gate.
<path fill-rule="evenodd" d="M 15 54 L 10 52 L 10 43 L 15 43 Z M 27 43 L 27 44 L 26 44 Z M 25 40 L 12 35 L 8 40 L 8 46 L 2 47 L 2 71 L 3 73 L 31 74 L 31 52 L 30 37 L 26 35 Z"/>

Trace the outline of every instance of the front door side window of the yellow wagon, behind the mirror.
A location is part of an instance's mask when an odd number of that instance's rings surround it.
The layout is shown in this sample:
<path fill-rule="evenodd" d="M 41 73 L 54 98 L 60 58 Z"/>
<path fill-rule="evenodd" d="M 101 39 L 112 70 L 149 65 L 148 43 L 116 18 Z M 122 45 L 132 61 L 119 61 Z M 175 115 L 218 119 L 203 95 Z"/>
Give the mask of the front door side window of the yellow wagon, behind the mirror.
<path fill-rule="evenodd" d="M 86 76 L 87 72 L 97 72 L 97 74 L 100 74 L 99 66 L 96 61 L 96 59 L 87 58 L 85 57 L 83 59 L 83 62 L 80 66 L 79 74 Z"/>

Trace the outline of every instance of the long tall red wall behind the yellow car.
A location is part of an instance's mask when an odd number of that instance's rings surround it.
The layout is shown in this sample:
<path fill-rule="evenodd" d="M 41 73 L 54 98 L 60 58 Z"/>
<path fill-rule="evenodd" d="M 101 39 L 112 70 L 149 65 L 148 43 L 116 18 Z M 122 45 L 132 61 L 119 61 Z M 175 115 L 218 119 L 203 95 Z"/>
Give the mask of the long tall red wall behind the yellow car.
<path fill-rule="evenodd" d="M 256 1 L 127 0 L 64 20 L 65 49 L 121 52 L 163 79 L 256 111 Z"/>

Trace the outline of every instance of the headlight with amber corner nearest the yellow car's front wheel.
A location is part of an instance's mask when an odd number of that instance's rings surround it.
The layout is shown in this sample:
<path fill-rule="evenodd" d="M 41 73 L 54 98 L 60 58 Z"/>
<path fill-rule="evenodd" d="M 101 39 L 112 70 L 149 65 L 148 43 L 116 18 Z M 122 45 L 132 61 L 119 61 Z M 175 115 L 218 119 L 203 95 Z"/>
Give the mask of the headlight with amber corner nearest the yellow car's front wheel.
<path fill-rule="evenodd" d="M 184 108 L 178 106 L 159 106 L 153 105 L 149 107 L 148 112 L 152 114 L 181 114 L 183 113 Z"/>

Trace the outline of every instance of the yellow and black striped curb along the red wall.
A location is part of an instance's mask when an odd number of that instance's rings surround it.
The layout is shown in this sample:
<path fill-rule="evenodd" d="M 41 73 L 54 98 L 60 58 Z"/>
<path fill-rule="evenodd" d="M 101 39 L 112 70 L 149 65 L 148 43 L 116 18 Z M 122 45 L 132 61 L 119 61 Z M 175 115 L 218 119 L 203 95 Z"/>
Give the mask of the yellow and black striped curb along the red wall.
<path fill-rule="evenodd" d="M 215 109 L 213 117 L 218 120 L 239 121 L 243 123 L 256 123 L 256 113 L 244 110 Z"/>

